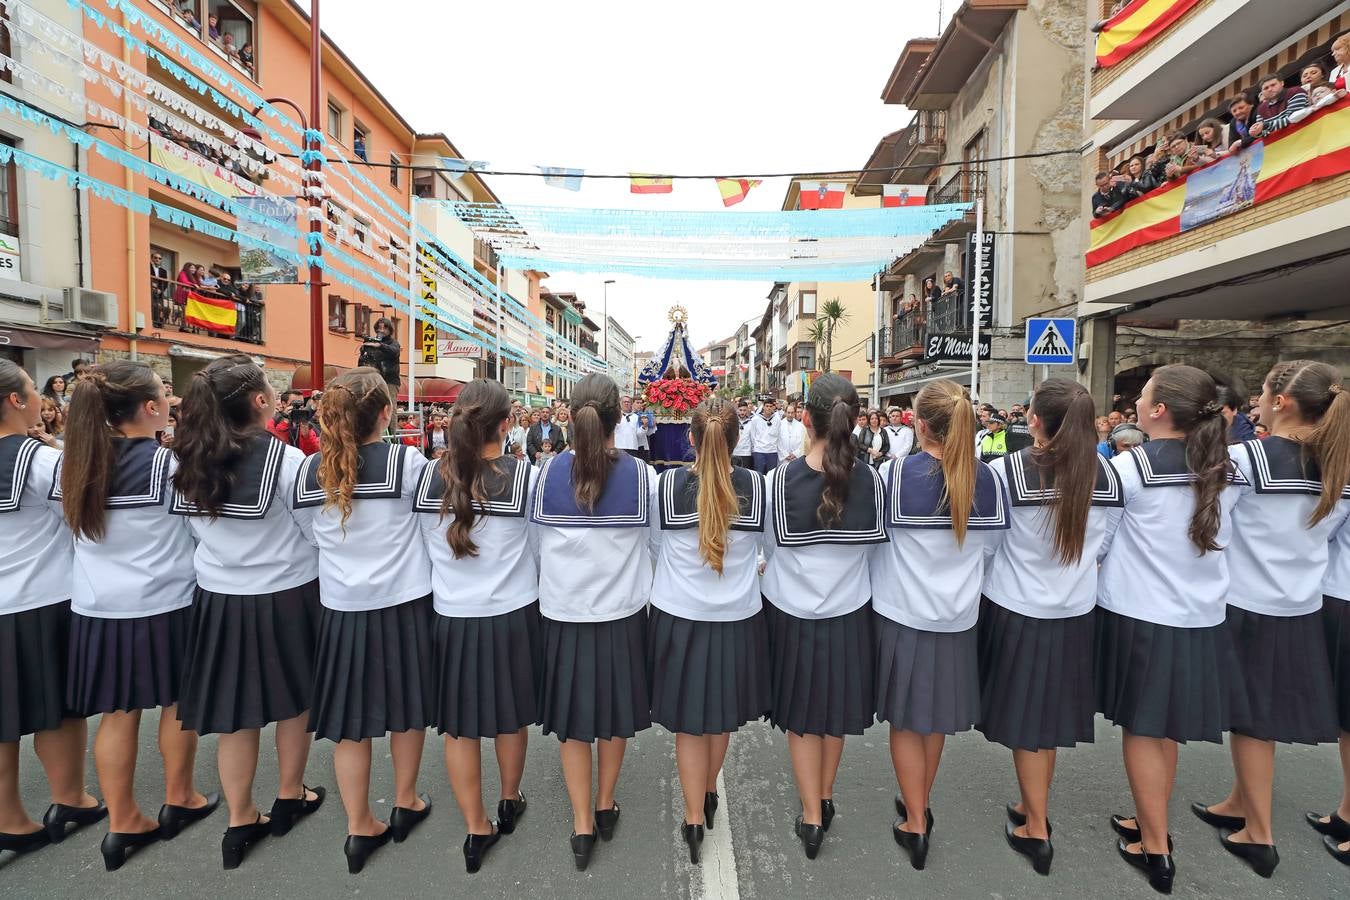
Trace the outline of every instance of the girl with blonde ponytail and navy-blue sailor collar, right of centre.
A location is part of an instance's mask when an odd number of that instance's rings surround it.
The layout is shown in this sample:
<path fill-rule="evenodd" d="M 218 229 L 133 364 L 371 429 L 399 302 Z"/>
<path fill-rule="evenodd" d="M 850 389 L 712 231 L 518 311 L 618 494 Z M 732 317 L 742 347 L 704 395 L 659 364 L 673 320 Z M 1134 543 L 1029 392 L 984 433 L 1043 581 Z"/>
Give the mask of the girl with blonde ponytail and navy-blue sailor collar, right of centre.
<path fill-rule="evenodd" d="M 948 734 L 980 718 L 976 619 L 984 557 L 1008 528 L 1007 497 L 975 459 L 971 395 L 950 381 L 914 398 L 919 452 L 883 466 L 890 542 L 872 556 L 876 714 L 891 725 L 900 793 L 891 835 L 922 869 L 929 795 Z"/>

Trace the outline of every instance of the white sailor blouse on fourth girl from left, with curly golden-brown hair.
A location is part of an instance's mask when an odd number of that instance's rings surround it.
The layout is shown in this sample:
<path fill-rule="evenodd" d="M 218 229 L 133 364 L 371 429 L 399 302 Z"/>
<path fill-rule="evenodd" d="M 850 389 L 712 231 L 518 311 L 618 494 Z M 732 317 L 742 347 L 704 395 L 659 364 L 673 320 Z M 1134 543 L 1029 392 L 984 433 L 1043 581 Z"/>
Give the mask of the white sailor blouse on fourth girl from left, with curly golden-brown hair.
<path fill-rule="evenodd" d="M 410 510 L 427 457 L 412 447 L 375 441 L 359 448 L 351 517 L 323 509 L 323 452 L 306 456 L 294 484 L 296 509 L 312 509 L 319 544 L 319 599 L 331 610 L 360 613 L 431 594 L 431 563 Z"/>

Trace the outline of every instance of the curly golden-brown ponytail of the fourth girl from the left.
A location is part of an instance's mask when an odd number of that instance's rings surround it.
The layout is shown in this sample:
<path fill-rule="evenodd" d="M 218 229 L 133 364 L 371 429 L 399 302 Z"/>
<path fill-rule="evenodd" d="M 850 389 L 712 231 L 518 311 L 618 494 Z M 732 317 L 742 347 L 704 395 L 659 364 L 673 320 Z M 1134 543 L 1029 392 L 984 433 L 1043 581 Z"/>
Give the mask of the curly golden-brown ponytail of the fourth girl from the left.
<path fill-rule="evenodd" d="M 360 443 L 375 430 L 379 416 L 393 403 L 383 376 L 369 366 L 346 371 L 328 382 L 319 405 L 324 448 L 319 459 L 319 486 L 324 488 L 324 509 L 342 510 L 342 524 L 351 518 L 351 498 L 356 490 Z"/>

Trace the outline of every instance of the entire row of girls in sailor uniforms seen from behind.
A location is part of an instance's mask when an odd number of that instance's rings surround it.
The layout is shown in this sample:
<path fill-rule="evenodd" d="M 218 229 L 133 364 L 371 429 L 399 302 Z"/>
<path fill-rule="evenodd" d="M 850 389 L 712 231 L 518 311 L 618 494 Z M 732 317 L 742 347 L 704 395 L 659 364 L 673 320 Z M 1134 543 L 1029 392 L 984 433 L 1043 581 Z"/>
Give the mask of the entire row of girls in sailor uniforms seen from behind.
<path fill-rule="evenodd" d="M 1006 839 L 1048 873 L 1056 750 L 1091 741 L 1100 711 L 1125 731 L 1134 797 L 1111 818 L 1118 850 L 1166 891 L 1179 742 L 1231 734 L 1233 791 L 1192 811 L 1264 876 L 1278 861 L 1276 742 L 1339 734 L 1350 762 L 1350 398 L 1322 363 L 1272 370 L 1272 437 L 1231 449 L 1214 382 L 1160 368 L 1139 401 L 1153 440 L 1111 461 L 1071 381 L 1037 390 L 1035 445 L 994 466 L 969 452 L 969 397 L 936 382 L 915 401 L 922 452 L 879 472 L 855 464 L 856 391 L 825 375 L 806 402 L 809 453 L 767 478 L 730 466 L 738 422 L 717 401 L 694 414 L 690 470 L 656 476 L 616 453 L 618 391 L 599 375 L 575 389 L 574 449 L 541 471 L 502 456 L 510 407 L 494 382 L 464 387 L 436 464 L 383 443 L 392 407 L 371 370 L 329 385 L 329 441 L 308 460 L 265 433 L 271 389 L 242 356 L 194 378 L 173 453 L 153 441 L 167 410 L 144 367 L 96 367 L 77 386 L 59 466 L 24 437 L 36 394 L 3 362 L 0 395 L 0 511 L 20 538 L 0 551 L 0 652 L 16 660 L 0 680 L 3 849 L 104 815 L 109 869 L 173 838 L 217 801 L 192 784 L 197 735 L 215 733 L 223 860 L 239 865 L 323 803 L 301 781 L 313 731 L 336 742 L 359 872 L 429 815 L 416 773 L 435 725 L 473 872 L 525 812 L 526 727 L 541 723 L 562 745 L 585 868 L 618 824 L 625 741 L 655 721 L 676 734 L 697 860 L 729 735 L 767 715 L 787 733 L 807 857 L 834 818 L 845 737 L 880 718 L 900 789 L 891 834 L 915 868 L 945 735 L 979 726 L 1013 752 Z M 54 583 L 72 553 L 73 586 Z M 132 796 L 153 707 L 158 822 Z M 107 807 L 82 783 L 96 712 Z M 273 722 L 281 779 L 263 815 L 252 779 Z M 16 789 L 28 733 L 53 793 L 42 826 Z M 369 803 L 370 739 L 385 734 L 387 823 Z M 501 769 L 494 819 L 482 737 Z M 1350 785 L 1308 816 L 1342 862 L 1347 820 Z"/>

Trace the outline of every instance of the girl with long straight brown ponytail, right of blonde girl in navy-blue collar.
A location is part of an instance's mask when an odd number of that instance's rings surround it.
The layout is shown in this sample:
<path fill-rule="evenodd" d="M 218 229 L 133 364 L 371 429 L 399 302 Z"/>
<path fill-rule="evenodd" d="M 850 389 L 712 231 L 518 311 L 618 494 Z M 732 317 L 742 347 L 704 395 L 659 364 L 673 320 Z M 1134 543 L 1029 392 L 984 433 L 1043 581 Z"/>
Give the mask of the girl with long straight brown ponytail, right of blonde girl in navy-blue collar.
<path fill-rule="evenodd" d="M 1046 812 L 1057 748 L 1092 741 L 1092 625 L 1098 553 L 1125 506 L 1120 479 L 1096 452 L 1092 397 L 1050 378 L 1031 397 L 1034 447 L 990 463 L 1008 494 L 1010 528 L 980 600 L 980 731 L 1013 750 L 1021 800 L 1007 807 L 1008 846 L 1050 873 Z"/>

